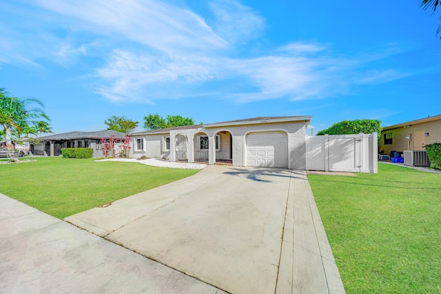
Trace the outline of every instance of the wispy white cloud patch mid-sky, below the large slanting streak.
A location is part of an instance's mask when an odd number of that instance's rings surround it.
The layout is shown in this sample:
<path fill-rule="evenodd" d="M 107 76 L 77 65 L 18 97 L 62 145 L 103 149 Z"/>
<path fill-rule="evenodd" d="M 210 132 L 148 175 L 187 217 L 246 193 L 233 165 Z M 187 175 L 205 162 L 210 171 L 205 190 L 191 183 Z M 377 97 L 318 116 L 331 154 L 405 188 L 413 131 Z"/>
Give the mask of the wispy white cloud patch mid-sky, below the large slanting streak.
<path fill-rule="evenodd" d="M 114 50 L 107 64 L 96 71 L 96 75 L 107 82 L 98 92 L 115 102 L 142 100 L 152 103 L 146 88 L 176 87 L 211 80 L 217 62 L 203 56 L 138 55 Z M 147 98 L 141 97 L 143 95 Z"/>

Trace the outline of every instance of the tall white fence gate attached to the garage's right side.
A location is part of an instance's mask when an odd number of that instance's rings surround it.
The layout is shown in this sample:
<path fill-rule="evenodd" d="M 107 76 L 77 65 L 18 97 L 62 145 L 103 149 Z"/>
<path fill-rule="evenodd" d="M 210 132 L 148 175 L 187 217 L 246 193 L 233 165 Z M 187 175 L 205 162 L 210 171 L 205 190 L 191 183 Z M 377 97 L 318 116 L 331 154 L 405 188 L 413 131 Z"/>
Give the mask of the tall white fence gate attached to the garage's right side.
<path fill-rule="evenodd" d="M 308 171 L 377 173 L 378 134 L 306 136 Z"/>

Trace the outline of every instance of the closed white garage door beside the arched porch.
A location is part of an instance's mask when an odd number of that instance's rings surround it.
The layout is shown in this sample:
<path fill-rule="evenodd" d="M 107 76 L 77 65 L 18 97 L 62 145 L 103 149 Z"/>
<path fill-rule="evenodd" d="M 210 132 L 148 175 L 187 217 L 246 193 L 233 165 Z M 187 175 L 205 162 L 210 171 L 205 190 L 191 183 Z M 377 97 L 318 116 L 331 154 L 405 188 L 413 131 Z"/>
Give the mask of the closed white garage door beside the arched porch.
<path fill-rule="evenodd" d="M 250 167 L 288 167 L 288 137 L 284 132 L 247 135 L 247 165 Z"/>

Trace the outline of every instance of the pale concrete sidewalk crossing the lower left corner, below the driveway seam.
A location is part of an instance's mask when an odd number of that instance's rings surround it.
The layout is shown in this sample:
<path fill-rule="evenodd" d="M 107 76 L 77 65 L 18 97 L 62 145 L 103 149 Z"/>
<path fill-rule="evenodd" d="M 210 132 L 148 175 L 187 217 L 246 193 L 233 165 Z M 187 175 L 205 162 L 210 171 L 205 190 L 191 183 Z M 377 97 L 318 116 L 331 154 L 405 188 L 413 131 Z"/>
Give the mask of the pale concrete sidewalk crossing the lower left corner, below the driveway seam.
<path fill-rule="evenodd" d="M 225 293 L 0 194 L 0 293 Z"/>

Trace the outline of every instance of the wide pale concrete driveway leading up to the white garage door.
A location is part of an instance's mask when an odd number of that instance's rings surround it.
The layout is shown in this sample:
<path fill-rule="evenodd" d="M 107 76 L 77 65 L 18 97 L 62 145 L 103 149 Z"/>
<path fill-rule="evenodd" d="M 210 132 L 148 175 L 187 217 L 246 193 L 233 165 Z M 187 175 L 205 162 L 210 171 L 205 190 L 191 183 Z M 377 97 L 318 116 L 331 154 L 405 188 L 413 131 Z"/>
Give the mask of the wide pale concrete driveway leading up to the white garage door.
<path fill-rule="evenodd" d="M 209 166 L 65 220 L 230 293 L 344 293 L 302 171 Z"/>

